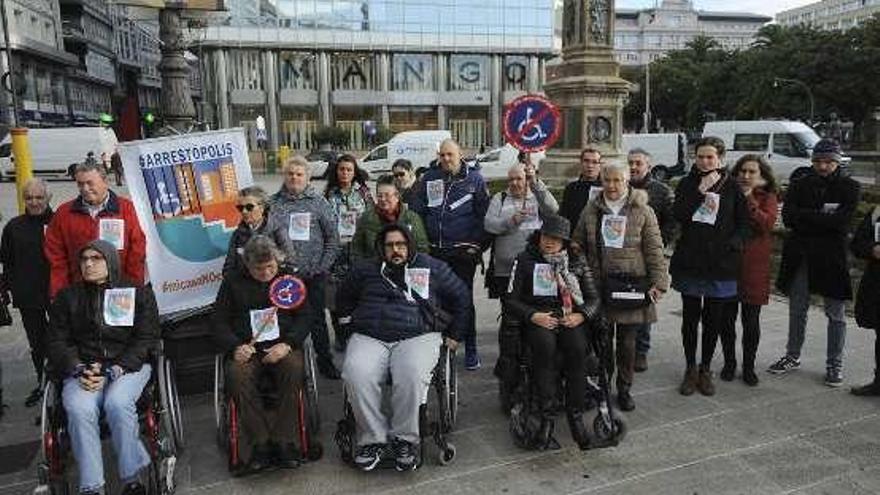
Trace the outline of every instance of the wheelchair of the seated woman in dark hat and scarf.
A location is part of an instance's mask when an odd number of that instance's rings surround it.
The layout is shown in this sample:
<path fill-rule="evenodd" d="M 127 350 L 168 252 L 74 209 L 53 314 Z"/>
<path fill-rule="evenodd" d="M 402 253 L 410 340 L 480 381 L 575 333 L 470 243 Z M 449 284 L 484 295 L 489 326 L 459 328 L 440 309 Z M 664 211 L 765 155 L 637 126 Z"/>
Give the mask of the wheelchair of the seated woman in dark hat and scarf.
<path fill-rule="evenodd" d="M 499 401 L 509 416 L 510 432 L 514 442 L 529 448 L 526 439 L 536 428 L 539 409 L 531 380 L 531 352 L 523 336 L 522 322 L 502 313 L 498 333 L 500 356 L 494 374 L 499 379 Z M 611 353 L 611 326 L 600 318 L 588 323 L 587 387 L 584 390 L 587 411 L 585 425 L 590 435 L 589 449 L 614 447 L 626 436 L 626 423 L 612 407 L 609 375 L 613 369 Z M 562 355 L 557 354 L 557 370 L 562 367 Z M 559 374 L 556 409 L 565 410 L 565 378 Z M 557 446 L 558 448 L 558 446 Z M 584 448 L 583 446 L 581 448 Z"/>

